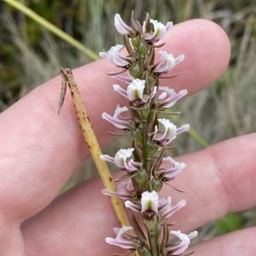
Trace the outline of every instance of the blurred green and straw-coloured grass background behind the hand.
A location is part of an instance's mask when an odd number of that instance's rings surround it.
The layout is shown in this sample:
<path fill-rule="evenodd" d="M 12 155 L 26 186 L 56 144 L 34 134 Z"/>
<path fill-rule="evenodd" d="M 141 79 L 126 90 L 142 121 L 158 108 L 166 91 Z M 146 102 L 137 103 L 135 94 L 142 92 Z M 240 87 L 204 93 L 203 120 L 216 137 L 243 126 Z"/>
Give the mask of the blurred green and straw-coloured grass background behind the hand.
<path fill-rule="evenodd" d="M 230 38 L 230 66 L 222 78 L 207 90 L 190 96 L 176 108 L 178 122 L 189 123 L 210 144 L 255 131 L 256 128 L 256 1 L 252 0 L 26 0 L 20 1 L 94 52 L 122 43 L 113 27 L 113 15 L 129 20 L 131 9 L 137 20 L 145 13 L 174 24 L 194 18 L 212 20 Z M 0 111 L 60 73 L 60 67 L 79 67 L 91 61 L 79 49 L 39 26 L 15 8 L 0 3 Z M 216 56 L 221 58 L 221 56 Z M 44 71 L 44 73 L 43 73 Z M 189 109 L 188 111 L 186 111 Z M 210 118 L 209 118 L 210 117 Z M 105 150 L 129 147 L 129 138 L 118 138 Z M 178 137 L 174 155 L 203 147 L 189 135 Z M 207 145 L 207 144 L 205 144 Z M 92 172 L 83 170 L 84 166 Z M 88 167 L 89 166 L 89 167 Z M 113 166 L 111 166 L 113 168 Z M 96 172 L 91 160 L 76 172 L 62 191 Z M 89 173 L 89 174 L 88 174 Z M 254 211 L 254 210 L 252 210 Z M 200 239 L 255 224 L 252 211 L 229 213 L 216 224 L 202 228 Z M 255 213 L 255 212 L 254 212 Z"/>

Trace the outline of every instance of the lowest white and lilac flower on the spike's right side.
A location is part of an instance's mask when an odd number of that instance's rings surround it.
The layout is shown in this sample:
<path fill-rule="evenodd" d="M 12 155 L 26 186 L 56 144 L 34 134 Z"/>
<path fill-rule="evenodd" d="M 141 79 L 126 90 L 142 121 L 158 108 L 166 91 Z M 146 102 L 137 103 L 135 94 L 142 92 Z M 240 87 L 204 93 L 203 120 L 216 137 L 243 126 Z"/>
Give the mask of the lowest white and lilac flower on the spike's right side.
<path fill-rule="evenodd" d="M 181 241 L 174 246 L 168 246 L 165 248 L 166 254 L 181 255 L 188 247 L 190 240 L 198 235 L 197 231 L 191 232 L 189 235 L 185 235 L 178 231 L 171 231 L 172 235 L 177 236 Z"/>

